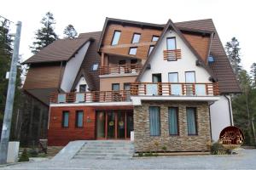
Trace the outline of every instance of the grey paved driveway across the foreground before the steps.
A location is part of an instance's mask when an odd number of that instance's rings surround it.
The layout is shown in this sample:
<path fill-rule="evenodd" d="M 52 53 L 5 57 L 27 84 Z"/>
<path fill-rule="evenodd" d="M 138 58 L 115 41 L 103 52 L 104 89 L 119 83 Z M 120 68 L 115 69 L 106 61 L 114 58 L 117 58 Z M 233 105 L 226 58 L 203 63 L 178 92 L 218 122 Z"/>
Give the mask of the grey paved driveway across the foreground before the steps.
<path fill-rule="evenodd" d="M 170 156 L 132 160 L 40 161 L 0 169 L 256 169 L 256 150 L 242 150 L 234 156 Z"/>

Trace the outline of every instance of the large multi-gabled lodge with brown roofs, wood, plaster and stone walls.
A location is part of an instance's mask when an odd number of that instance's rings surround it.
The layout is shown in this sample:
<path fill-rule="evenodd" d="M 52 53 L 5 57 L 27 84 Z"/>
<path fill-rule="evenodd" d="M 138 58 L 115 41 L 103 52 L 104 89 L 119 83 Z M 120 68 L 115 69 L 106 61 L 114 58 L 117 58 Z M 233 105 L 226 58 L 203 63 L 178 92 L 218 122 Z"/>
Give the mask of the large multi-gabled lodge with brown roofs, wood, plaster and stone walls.
<path fill-rule="evenodd" d="M 131 139 L 137 152 L 156 142 L 207 150 L 233 124 L 230 94 L 240 93 L 212 20 L 107 18 L 102 31 L 57 40 L 25 64 L 24 90 L 49 111 L 49 145 Z"/>

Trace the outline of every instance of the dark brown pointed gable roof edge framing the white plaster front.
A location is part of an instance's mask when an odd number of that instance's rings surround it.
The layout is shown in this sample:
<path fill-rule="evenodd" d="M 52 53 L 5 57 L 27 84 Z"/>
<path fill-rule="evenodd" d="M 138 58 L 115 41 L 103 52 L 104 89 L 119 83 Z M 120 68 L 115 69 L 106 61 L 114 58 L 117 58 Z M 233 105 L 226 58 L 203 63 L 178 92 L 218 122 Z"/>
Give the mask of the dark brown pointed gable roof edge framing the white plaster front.
<path fill-rule="evenodd" d="M 147 66 L 148 66 L 148 62 L 149 60 L 153 57 L 154 52 L 156 51 L 156 48 L 158 48 L 160 46 L 160 42 L 163 39 L 163 37 L 166 35 L 166 31 L 169 30 L 169 28 L 172 27 L 172 29 L 177 33 L 177 35 L 179 37 L 181 37 L 181 39 L 183 40 L 183 42 L 186 44 L 187 47 L 189 47 L 189 49 L 191 50 L 191 52 L 195 55 L 195 57 L 200 61 L 201 66 L 204 67 L 207 72 L 209 73 L 209 75 L 211 75 L 211 77 L 213 79 L 216 80 L 216 77 L 214 76 L 213 72 L 207 67 L 207 65 L 205 65 L 204 61 L 201 59 L 201 56 L 195 51 L 195 48 L 193 48 L 191 46 L 191 44 L 187 41 L 187 39 L 185 37 L 183 37 L 183 34 L 181 31 L 179 31 L 177 29 L 177 27 L 174 25 L 174 23 L 172 22 L 172 20 L 168 20 L 168 22 L 166 23 L 166 26 L 164 28 L 164 30 L 162 31 L 159 40 L 156 42 L 152 52 L 149 54 L 148 59 L 146 60 L 145 64 L 143 65 L 143 69 L 142 71 L 140 71 L 139 75 L 137 76 L 136 81 L 139 81 L 139 79 L 143 76 L 143 72 L 146 71 Z"/>

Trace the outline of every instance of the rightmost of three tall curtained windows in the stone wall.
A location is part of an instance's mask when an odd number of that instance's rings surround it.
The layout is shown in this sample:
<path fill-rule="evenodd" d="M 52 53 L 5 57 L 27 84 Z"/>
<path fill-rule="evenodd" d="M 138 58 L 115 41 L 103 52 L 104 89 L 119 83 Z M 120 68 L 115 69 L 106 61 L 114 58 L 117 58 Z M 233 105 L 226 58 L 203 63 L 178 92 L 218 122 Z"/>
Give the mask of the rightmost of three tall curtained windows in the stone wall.
<path fill-rule="evenodd" d="M 196 135 L 196 113 L 195 107 L 187 107 L 187 124 L 188 124 L 188 134 Z"/>

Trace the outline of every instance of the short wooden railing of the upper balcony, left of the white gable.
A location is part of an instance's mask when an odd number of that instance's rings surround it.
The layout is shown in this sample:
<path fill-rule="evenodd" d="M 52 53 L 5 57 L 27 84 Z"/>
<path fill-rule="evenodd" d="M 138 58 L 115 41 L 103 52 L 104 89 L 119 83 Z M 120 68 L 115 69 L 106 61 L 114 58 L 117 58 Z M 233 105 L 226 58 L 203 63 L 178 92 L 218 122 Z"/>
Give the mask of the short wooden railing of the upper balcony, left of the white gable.
<path fill-rule="evenodd" d="M 141 64 L 106 65 L 100 67 L 100 75 L 139 73 L 142 70 Z"/>

